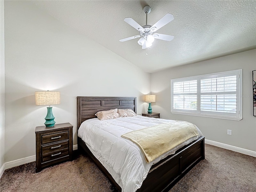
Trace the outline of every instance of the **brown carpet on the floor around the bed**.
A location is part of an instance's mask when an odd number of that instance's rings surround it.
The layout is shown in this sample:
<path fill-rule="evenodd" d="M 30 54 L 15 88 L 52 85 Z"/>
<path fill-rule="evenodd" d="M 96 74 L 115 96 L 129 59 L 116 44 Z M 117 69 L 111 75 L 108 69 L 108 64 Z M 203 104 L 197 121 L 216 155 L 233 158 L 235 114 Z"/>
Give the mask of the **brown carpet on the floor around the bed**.
<path fill-rule="evenodd" d="M 35 173 L 35 162 L 10 168 L 0 179 L 1 192 L 116 192 L 86 155 L 78 155 Z M 205 146 L 200 161 L 170 192 L 255 192 L 256 158 Z"/>

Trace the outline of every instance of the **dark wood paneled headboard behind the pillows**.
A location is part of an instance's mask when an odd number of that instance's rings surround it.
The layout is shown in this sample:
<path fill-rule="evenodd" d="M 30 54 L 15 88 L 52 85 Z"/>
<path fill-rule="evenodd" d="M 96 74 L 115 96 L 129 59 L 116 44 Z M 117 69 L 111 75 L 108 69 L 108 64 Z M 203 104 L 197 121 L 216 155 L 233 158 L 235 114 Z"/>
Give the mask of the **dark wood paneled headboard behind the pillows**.
<path fill-rule="evenodd" d="M 136 113 L 136 97 L 76 97 L 77 126 L 87 119 L 96 118 L 98 111 L 132 109 Z"/>

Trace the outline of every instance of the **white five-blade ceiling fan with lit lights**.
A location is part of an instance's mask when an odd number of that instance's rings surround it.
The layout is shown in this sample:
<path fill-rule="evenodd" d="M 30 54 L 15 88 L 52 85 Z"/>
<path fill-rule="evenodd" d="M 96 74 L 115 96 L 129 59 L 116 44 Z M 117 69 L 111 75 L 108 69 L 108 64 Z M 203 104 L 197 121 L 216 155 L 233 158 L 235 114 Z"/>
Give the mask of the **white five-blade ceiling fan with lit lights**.
<path fill-rule="evenodd" d="M 143 11 L 146 13 L 146 25 L 140 26 L 136 21 L 134 21 L 130 17 L 124 18 L 124 21 L 128 23 L 130 26 L 134 27 L 136 30 L 140 32 L 139 35 L 136 36 L 131 36 L 127 38 L 120 39 L 120 42 L 128 41 L 131 39 L 136 39 L 139 38 L 138 44 L 142 46 L 142 49 L 149 48 L 152 46 L 152 42 L 154 42 L 155 39 L 161 39 L 165 41 L 171 41 L 173 40 L 174 36 L 173 35 L 166 35 L 166 34 L 160 34 L 160 33 L 155 33 L 158 29 L 161 27 L 165 26 L 172 20 L 174 20 L 174 17 L 172 14 L 167 13 L 165 14 L 158 22 L 156 22 L 154 25 L 148 25 L 148 14 L 151 11 L 150 6 L 145 6 Z"/>

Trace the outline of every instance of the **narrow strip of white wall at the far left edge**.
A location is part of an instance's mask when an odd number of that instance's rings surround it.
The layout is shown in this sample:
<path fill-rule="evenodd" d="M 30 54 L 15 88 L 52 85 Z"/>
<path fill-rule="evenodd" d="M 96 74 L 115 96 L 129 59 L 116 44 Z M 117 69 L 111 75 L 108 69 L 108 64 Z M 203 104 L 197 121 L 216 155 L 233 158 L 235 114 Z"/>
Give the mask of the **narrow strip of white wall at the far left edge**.
<path fill-rule="evenodd" d="M 0 1 L 0 176 L 4 164 L 4 1 Z"/>

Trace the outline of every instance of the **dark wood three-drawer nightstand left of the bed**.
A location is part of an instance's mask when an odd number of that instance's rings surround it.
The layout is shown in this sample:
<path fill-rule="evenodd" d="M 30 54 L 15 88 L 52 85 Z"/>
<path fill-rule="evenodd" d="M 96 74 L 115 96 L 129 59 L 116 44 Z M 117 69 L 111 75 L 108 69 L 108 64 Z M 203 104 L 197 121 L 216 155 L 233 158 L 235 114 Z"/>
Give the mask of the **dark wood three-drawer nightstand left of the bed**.
<path fill-rule="evenodd" d="M 62 161 L 72 160 L 73 126 L 70 123 L 53 127 L 38 126 L 36 133 L 36 172 Z"/>

